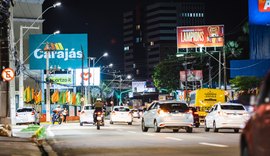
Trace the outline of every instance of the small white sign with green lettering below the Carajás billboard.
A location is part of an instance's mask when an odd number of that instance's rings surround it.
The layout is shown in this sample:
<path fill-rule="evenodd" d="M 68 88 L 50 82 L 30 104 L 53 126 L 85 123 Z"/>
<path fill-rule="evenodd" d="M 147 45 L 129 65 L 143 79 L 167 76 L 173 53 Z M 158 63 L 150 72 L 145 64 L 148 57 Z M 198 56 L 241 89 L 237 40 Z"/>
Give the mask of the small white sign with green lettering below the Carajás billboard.
<path fill-rule="evenodd" d="M 73 87 L 73 75 L 72 74 L 52 74 L 50 80 L 53 81 L 52 89 L 66 89 Z M 46 75 L 44 75 L 44 81 L 46 81 Z"/>

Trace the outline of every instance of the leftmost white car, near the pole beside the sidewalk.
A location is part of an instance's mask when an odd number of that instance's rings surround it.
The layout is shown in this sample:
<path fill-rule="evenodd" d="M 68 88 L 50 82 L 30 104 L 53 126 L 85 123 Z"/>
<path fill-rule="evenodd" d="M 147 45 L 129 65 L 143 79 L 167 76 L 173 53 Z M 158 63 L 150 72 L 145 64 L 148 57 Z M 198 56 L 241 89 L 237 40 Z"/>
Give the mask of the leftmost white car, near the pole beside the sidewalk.
<path fill-rule="evenodd" d="M 16 125 L 39 124 L 39 113 L 32 107 L 18 108 L 16 111 Z"/>

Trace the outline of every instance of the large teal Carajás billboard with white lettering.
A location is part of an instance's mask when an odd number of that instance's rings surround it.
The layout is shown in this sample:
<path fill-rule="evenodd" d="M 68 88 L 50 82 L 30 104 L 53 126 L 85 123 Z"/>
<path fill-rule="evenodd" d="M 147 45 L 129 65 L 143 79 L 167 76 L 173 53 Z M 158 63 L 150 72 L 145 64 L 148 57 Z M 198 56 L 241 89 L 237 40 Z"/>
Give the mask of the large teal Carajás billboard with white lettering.
<path fill-rule="evenodd" d="M 87 43 L 87 34 L 30 35 L 29 68 L 46 69 L 47 54 L 49 66 L 81 68 L 82 57 L 88 58 Z M 86 59 L 83 64 L 87 66 Z"/>

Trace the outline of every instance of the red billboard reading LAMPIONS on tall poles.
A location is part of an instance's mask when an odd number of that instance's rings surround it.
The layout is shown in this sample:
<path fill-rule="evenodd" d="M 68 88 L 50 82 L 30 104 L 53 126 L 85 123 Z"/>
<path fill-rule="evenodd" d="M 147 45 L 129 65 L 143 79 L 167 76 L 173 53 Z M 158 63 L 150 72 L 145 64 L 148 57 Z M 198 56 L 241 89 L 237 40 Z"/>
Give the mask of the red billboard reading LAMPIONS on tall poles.
<path fill-rule="evenodd" d="M 224 25 L 177 27 L 177 48 L 223 47 Z"/>

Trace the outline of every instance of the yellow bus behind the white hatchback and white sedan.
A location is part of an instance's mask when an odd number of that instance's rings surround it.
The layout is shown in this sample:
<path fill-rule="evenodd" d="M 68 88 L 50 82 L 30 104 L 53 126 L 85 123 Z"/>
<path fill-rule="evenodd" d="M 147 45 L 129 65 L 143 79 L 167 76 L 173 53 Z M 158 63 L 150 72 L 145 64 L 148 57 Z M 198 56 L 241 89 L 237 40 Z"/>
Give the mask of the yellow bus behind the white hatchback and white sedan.
<path fill-rule="evenodd" d="M 201 88 L 189 93 L 189 106 L 197 109 L 200 122 L 204 122 L 207 111 L 218 102 L 225 102 L 225 90 Z"/>

